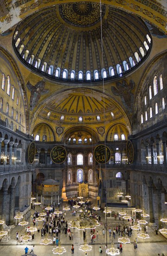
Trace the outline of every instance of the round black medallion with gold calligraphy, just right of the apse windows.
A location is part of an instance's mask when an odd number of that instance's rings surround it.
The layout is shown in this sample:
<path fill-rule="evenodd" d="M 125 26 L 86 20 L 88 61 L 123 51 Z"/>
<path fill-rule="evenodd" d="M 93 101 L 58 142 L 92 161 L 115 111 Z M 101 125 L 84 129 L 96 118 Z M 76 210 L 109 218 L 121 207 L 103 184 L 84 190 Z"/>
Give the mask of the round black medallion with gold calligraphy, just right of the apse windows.
<path fill-rule="evenodd" d="M 109 162 L 111 157 L 110 149 L 105 145 L 98 145 L 94 150 L 94 157 L 96 162 L 98 163 L 106 163 Z"/>

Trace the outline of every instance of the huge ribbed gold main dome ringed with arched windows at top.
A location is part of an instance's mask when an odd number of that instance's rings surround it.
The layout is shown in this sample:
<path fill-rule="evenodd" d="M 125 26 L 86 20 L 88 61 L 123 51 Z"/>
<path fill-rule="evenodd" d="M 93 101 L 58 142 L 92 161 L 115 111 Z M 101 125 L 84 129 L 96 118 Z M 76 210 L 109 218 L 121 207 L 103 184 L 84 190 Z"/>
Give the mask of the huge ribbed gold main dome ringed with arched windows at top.
<path fill-rule="evenodd" d="M 93 2 L 41 9 L 20 21 L 13 36 L 16 54 L 34 72 L 85 84 L 129 74 L 151 45 L 141 18 Z"/>

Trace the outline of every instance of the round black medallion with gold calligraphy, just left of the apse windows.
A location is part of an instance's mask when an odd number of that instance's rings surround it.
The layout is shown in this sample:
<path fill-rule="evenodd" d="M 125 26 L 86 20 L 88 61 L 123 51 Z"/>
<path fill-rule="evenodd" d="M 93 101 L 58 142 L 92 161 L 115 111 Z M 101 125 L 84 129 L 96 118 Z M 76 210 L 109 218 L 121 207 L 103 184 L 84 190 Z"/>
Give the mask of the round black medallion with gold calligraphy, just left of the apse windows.
<path fill-rule="evenodd" d="M 65 161 L 67 152 L 62 146 L 56 146 L 51 149 L 51 161 L 54 163 L 62 163 Z"/>

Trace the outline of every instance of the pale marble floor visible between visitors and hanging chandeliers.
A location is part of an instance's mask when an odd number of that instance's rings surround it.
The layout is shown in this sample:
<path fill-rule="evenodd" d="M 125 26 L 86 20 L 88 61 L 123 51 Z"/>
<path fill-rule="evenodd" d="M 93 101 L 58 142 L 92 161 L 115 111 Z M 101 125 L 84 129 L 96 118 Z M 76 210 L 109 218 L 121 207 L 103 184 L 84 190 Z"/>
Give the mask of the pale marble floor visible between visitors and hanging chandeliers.
<path fill-rule="evenodd" d="M 37 209 L 39 210 L 39 209 Z M 33 211 L 32 211 L 33 214 Z M 79 215 L 79 213 L 77 213 L 77 215 Z M 112 237 L 109 238 L 109 234 L 107 232 L 107 237 L 106 234 L 103 237 L 103 228 L 104 228 L 104 214 L 103 213 L 99 213 L 99 215 L 101 216 L 101 225 L 96 227 L 96 231 L 98 231 L 98 237 L 96 237 L 96 241 L 94 243 L 91 243 L 90 241 L 90 231 L 87 230 L 86 231 L 86 240 L 87 243 L 89 243 L 90 245 L 92 245 L 92 250 L 87 252 L 88 256 L 100 256 L 100 255 L 106 255 L 105 253 L 105 244 L 107 241 L 107 246 L 108 248 L 111 247 L 111 242 L 112 242 Z M 67 212 L 66 213 L 66 217 L 65 217 L 68 221 L 76 218 L 74 216 L 72 216 L 71 212 Z M 30 220 L 29 220 L 30 221 Z M 120 221 L 117 220 L 111 220 L 108 219 L 107 220 L 107 224 L 109 226 L 112 227 L 116 227 L 116 225 L 119 223 Z M 122 222 L 122 221 L 121 221 Z M 38 232 L 35 232 L 35 236 L 34 236 L 34 240 L 32 240 L 32 242 L 28 242 L 26 244 L 17 244 L 16 243 L 16 232 L 19 230 L 19 235 L 24 235 L 25 233 L 25 228 L 23 227 L 21 229 L 21 227 L 19 227 L 18 225 L 15 226 L 12 229 L 11 232 L 11 240 L 7 243 L 5 242 L 0 242 L 0 256 L 22 256 L 25 253 L 25 247 L 27 246 L 29 248 L 28 253 L 30 253 L 31 248 L 33 245 L 34 246 L 34 254 L 37 256 L 53 256 L 54 254 L 52 253 L 52 249 L 53 249 L 53 244 L 44 246 L 44 245 L 40 245 L 39 241 L 41 239 L 40 233 L 38 234 Z M 73 236 L 73 241 L 69 239 L 68 234 L 62 234 L 60 233 L 59 239 L 61 242 L 61 245 L 65 247 L 66 252 L 63 254 L 63 256 L 70 256 L 71 255 L 71 244 L 74 244 L 74 255 L 76 256 L 85 256 L 85 253 L 81 250 L 79 250 L 79 246 L 81 244 L 83 244 L 83 231 L 80 230 L 73 230 L 74 236 Z M 148 225 L 148 234 L 150 235 L 150 238 L 148 239 L 141 239 L 141 238 L 137 238 L 137 245 L 138 248 L 136 249 L 136 251 L 134 251 L 134 246 L 133 246 L 133 242 L 135 240 L 135 237 L 137 237 L 137 233 L 133 231 L 132 236 L 130 237 L 130 241 L 131 243 L 129 244 L 123 244 L 122 245 L 122 256 L 158 256 L 158 254 L 160 253 L 160 255 L 162 255 L 162 253 L 167 256 L 167 240 L 164 239 L 160 234 L 155 235 L 155 231 L 153 227 L 150 227 Z M 48 236 L 49 238 L 53 238 L 53 236 Z M 116 244 L 118 242 L 118 237 L 119 235 L 116 234 L 116 238 L 113 239 L 115 248 L 116 248 Z M 99 253 L 99 247 L 101 246 L 103 252 Z M 30 254 L 33 255 L 33 254 Z"/>

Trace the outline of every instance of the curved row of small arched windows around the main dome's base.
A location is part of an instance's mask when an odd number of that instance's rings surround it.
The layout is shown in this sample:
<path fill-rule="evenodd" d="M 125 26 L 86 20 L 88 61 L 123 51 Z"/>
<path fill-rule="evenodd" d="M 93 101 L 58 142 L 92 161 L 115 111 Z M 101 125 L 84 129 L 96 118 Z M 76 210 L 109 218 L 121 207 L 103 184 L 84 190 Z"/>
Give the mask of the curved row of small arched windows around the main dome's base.
<path fill-rule="evenodd" d="M 17 34 L 18 34 L 18 31 L 16 31 L 16 33 L 14 35 L 14 38 L 16 38 Z M 146 35 L 146 37 L 147 37 L 148 42 L 150 43 L 151 42 L 151 38 L 149 37 L 148 34 Z M 17 39 L 17 41 L 15 43 L 15 46 L 18 47 L 19 43 L 20 43 L 20 38 Z M 147 42 L 144 41 L 143 44 L 144 44 L 144 47 L 146 48 L 146 51 L 148 51 L 149 46 L 148 46 Z M 19 47 L 19 54 L 22 54 L 24 48 L 25 48 L 25 46 L 23 44 Z M 37 60 L 35 60 L 35 56 L 33 54 L 30 55 L 29 50 L 26 49 L 24 51 L 25 51 L 25 53 L 22 55 L 22 58 L 24 60 L 26 60 L 30 65 L 33 65 L 34 67 L 40 69 L 41 71 L 43 71 L 43 72 L 45 72 L 47 74 L 50 74 L 50 75 L 55 76 L 57 78 L 60 77 L 60 71 L 61 71 L 60 67 L 57 67 L 56 70 L 54 70 L 53 65 L 50 65 L 49 67 L 47 67 L 47 63 L 46 62 L 44 62 L 42 67 L 41 67 L 41 60 L 39 58 Z M 141 56 L 144 57 L 145 56 L 145 52 L 144 52 L 142 47 L 139 48 L 139 51 L 140 51 Z M 139 57 L 139 54 L 137 52 L 135 52 L 134 55 L 135 55 L 135 59 L 136 59 L 137 63 L 140 62 L 141 58 Z M 130 66 L 131 67 L 135 66 L 135 61 L 133 60 L 133 58 L 131 56 L 129 57 L 129 62 L 130 62 Z M 129 68 L 131 68 L 131 67 L 128 67 L 127 61 L 122 61 L 122 66 L 123 66 L 124 71 L 122 70 L 122 67 L 121 67 L 120 64 L 116 64 L 116 71 L 114 70 L 114 67 L 109 67 L 109 77 L 112 77 L 112 76 L 116 75 L 115 73 L 117 73 L 120 76 L 122 76 L 123 72 L 128 71 Z M 106 72 L 105 68 L 102 68 L 101 76 L 104 79 L 107 78 L 107 72 Z M 68 79 L 68 70 L 67 69 L 63 70 L 62 78 L 63 79 Z M 71 71 L 70 79 L 71 80 L 75 80 L 76 79 L 76 72 L 75 72 L 75 70 Z M 99 72 L 97 70 L 94 70 L 94 80 L 98 80 L 98 79 L 99 79 Z M 80 70 L 78 72 L 78 80 L 83 80 L 83 71 L 82 70 Z M 91 80 L 91 73 L 90 73 L 89 70 L 86 71 L 86 80 L 87 81 Z"/>

